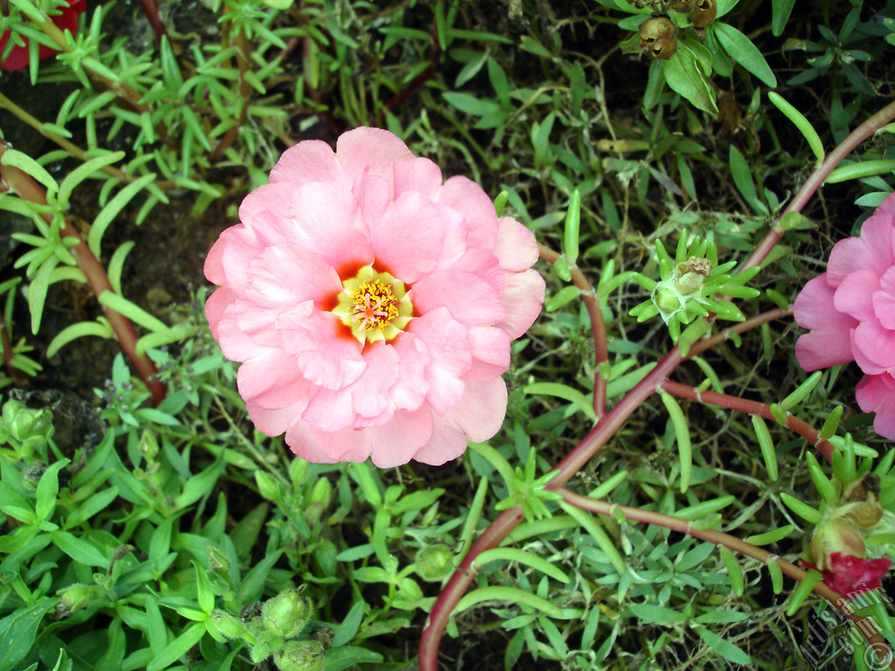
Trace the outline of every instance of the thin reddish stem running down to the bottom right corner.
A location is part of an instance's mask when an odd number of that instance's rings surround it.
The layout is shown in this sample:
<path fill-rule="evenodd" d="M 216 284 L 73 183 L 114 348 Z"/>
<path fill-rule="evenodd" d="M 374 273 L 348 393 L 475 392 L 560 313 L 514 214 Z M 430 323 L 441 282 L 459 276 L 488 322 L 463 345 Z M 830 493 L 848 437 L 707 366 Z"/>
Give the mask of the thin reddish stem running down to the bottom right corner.
<path fill-rule="evenodd" d="M 696 530 L 690 525 L 690 522 L 681 520 L 678 517 L 653 513 L 647 510 L 640 510 L 639 508 L 631 508 L 627 505 L 617 505 L 610 504 L 606 501 L 598 501 L 590 497 L 583 497 L 580 494 L 575 494 L 575 492 L 566 488 L 560 489 L 559 493 L 562 494 L 567 503 L 582 508 L 583 510 L 591 511 L 592 513 L 611 515 L 613 510 L 620 510 L 628 520 L 657 524 L 658 526 L 666 527 L 668 529 L 674 529 L 675 531 L 689 534 L 694 538 L 707 540 L 715 545 L 726 546 L 732 550 L 736 550 L 742 555 L 751 556 L 764 564 L 767 564 L 770 561 L 777 562 L 777 565 L 780 566 L 780 570 L 783 573 L 786 573 L 790 578 L 793 578 L 798 582 L 802 582 L 807 576 L 807 573 L 797 565 L 790 564 L 786 559 L 781 559 L 779 556 L 773 555 L 767 550 L 746 543 L 746 541 L 738 539 L 736 536 L 731 536 L 727 533 L 714 531 L 712 529 L 704 531 Z M 824 599 L 827 599 L 833 606 L 837 607 L 846 617 L 848 617 L 852 624 L 857 627 L 857 630 L 865 635 L 867 642 L 870 643 L 870 647 L 874 649 L 877 658 L 884 661 L 891 669 L 895 669 L 895 660 L 891 657 L 889 645 L 876 630 L 872 617 L 865 618 L 864 616 L 855 615 L 850 607 L 845 606 L 847 599 L 831 590 L 823 582 L 818 582 L 814 585 L 814 591 L 820 594 Z M 864 623 L 863 621 L 865 619 L 868 619 L 869 621 Z M 873 633 L 867 635 L 868 631 L 872 631 Z"/>

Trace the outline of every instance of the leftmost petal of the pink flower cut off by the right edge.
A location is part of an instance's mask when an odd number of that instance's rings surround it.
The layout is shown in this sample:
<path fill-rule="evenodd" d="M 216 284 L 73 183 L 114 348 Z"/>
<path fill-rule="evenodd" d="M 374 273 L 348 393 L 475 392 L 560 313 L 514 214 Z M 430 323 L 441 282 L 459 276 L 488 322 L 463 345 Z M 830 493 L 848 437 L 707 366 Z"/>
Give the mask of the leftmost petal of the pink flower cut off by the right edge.
<path fill-rule="evenodd" d="M 827 368 L 855 358 L 850 331 L 857 327 L 857 319 L 835 309 L 835 291 L 826 278 L 823 274 L 809 281 L 793 306 L 796 323 L 813 329 L 800 336 L 796 343 L 796 359 L 805 370 Z"/>

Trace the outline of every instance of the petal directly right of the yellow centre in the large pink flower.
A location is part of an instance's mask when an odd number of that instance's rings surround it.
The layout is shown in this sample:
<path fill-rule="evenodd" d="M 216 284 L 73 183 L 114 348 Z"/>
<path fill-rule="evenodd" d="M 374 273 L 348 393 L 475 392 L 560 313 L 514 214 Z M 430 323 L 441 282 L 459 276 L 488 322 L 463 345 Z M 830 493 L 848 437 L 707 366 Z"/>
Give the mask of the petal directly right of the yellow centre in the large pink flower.
<path fill-rule="evenodd" d="M 467 327 L 490 327 L 507 316 L 499 294 L 485 280 L 459 270 L 440 270 L 422 277 L 413 285 L 411 300 L 422 314 L 445 307 Z"/>

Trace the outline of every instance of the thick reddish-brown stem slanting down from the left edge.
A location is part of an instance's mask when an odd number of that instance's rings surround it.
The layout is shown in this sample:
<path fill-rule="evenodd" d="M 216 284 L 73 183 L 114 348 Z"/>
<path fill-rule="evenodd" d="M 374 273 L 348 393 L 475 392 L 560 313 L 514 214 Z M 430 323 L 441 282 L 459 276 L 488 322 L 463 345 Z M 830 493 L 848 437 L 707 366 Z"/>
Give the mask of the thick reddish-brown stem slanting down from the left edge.
<path fill-rule="evenodd" d="M 8 145 L 3 140 L 0 140 L 0 157 L 4 155 L 6 149 L 9 149 Z M 22 200 L 28 200 L 38 205 L 47 205 L 47 193 L 38 186 L 38 183 L 29 174 L 14 166 L 4 166 L 0 162 L 0 175 L 3 177 L 6 189 L 18 193 Z M 42 217 L 44 217 L 47 224 L 52 225 L 52 215 L 45 214 Z M 113 291 L 106 275 L 106 269 L 103 268 L 102 264 L 99 263 L 99 259 L 90 251 L 90 247 L 87 246 L 81 235 L 74 230 L 72 223 L 66 222 L 59 229 L 59 234 L 63 238 L 72 238 L 72 240 L 78 241 L 73 247 L 69 247 L 68 251 L 71 252 L 78 263 L 78 268 L 81 268 L 81 271 L 87 276 L 87 281 L 93 293 L 99 297 L 101 293 Z M 157 379 L 153 379 L 157 371 L 149 357 L 146 354 L 137 354 L 137 332 L 134 330 L 131 320 L 124 317 L 120 312 L 111 310 L 106 306 L 103 306 L 103 312 L 106 315 L 106 319 L 109 320 L 112 330 L 115 331 L 115 336 L 117 336 L 124 353 L 127 354 L 133 367 L 137 370 L 143 382 L 146 383 L 147 388 L 149 388 L 149 392 L 152 395 L 152 403 L 158 405 L 165 398 L 165 386 Z"/>

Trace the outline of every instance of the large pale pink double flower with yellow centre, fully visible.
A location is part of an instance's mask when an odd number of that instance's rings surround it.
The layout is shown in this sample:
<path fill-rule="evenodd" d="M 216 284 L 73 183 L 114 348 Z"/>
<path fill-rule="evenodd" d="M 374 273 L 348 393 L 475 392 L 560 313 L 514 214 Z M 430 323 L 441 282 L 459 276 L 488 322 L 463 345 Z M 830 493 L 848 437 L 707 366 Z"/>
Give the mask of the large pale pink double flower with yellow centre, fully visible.
<path fill-rule="evenodd" d="M 305 140 L 209 251 L 206 312 L 251 420 L 311 462 L 445 463 L 500 429 L 541 311 L 533 234 L 390 132 Z"/>

